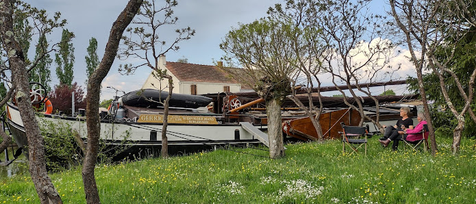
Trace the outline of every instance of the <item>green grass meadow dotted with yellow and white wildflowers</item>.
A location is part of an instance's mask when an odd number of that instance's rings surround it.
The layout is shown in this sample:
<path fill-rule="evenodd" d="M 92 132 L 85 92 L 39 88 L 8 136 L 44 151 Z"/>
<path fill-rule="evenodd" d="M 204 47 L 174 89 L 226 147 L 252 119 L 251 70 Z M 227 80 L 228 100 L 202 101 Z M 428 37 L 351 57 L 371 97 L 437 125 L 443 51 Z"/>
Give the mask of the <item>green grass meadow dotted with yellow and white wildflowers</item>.
<path fill-rule="evenodd" d="M 377 138 L 368 154 L 342 155 L 339 141 L 286 147 L 270 160 L 256 149 L 219 150 L 96 168 L 103 203 L 475 203 L 475 140 L 458 156 L 439 139 L 436 157 L 390 151 Z M 79 168 L 51 175 L 64 203 L 84 203 Z M 38 203 L 29 175 L 0 178 L 0 203 Z"/>

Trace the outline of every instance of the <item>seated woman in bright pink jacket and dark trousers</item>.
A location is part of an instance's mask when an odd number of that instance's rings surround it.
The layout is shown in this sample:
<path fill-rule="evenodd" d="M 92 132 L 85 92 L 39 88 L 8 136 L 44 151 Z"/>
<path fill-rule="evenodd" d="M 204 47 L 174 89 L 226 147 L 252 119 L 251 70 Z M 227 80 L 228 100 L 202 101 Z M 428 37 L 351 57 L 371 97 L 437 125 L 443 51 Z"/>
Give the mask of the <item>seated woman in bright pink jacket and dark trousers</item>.
<path fill-rule="evenodd" d="M 425 115 L 423 113 L 418 113 L 416 116 L 416 120 L 418 120 L 418 125 L 414 127 L 414 129 L 405 129 L 405 131 L 399 131 L 399 135 L 395 137 L 390 137 L 388 138 L 388 141 L 386 144 L 390 143 L 393 141 L 392 144 L 392 150 L 397 150 L 397 147 L 399 146 L 399 140 L 403 137 L 405 140 L 408 142 L 414 142 L 417 140 L 422 140 L 423 138 L 428 138 L 428 132 L 425 132 L 425 136 L 423 136 L 423 125 L 427 124 Z"/>

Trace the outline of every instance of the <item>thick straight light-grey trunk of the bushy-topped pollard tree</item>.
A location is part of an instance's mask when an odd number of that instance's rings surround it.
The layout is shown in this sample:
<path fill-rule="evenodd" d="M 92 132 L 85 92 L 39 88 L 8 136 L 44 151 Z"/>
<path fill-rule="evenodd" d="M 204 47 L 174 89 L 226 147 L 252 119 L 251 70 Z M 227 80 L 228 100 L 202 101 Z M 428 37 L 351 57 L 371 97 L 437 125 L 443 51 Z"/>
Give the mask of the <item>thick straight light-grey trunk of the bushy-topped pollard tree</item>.
<path fill-rule="evenodd" d="M 270 99 L 266 101 L 266 115 L 268 116 L 269 157 L 271 157 L 271 159 L 284 157 L 280 101 L 280 99 Z"/>

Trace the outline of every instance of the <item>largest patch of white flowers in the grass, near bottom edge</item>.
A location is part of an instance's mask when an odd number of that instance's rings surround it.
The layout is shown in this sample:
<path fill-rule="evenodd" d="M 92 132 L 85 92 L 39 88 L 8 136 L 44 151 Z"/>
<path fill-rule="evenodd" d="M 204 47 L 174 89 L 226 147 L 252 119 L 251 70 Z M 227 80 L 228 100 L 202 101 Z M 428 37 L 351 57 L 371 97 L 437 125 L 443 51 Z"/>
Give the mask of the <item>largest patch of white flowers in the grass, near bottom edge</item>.
<path fill-rule="evenodd" d="M 286 184 L 286 190 L 279 190 L 278 194 L 282 197 L 295 197 L 295 195 L 304 195 L 306 199 L 312 199 L 320 194 L 324 190 L 323 186 L 315 188 L 308 181 L 298 179 L 292 181 L 282 181 Z"/>

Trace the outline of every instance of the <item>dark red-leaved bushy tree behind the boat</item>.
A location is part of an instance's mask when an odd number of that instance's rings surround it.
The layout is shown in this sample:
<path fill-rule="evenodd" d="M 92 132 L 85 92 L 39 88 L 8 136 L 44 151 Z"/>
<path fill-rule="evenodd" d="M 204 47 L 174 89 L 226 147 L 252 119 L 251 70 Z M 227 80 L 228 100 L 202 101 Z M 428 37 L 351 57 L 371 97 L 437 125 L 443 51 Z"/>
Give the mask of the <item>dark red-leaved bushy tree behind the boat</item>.
<path fill-rule="evenodd" d="M 73 110 L 71 110 L 72 92 L 75 93 L 75 109 L 86 108 L 83 88 L 77 85 L 76 82 L 71 86 L 66 84 L 55 86 L 54 90 L 49 93 L 49 101 L 53 104 L 53 108 L 56 111 L 64 112 L 66 115 L 73 114 Z"/>

